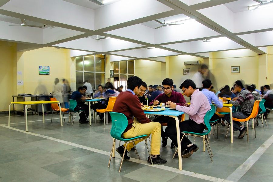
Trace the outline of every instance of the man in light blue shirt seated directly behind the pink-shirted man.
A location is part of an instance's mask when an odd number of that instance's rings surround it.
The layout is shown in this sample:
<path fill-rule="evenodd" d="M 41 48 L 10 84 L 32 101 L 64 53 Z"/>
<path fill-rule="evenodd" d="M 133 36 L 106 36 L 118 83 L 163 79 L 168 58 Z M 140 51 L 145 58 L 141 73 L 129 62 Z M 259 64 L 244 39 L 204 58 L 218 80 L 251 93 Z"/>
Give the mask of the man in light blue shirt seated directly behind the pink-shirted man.
<path fill-rule="evenodd" d="M 211 104 L 213 102 L 217 107 L 221 109 L 223 107 L 223 103 L 218 100 L 218 97 L 213 92 L 209 91 L 209 89 L 212 86 L 211 80 L 205 79 L 203 80 L 202 83 L 203 83 L 203 90 L 201 92 L 207 97 L 209 103 Z M 215 113 L 211 117 L 211 121 L 218 120 L 218 123 L 221 121 L 220 119 L 221 118 L 217 116 L 217 114 Z"/>

